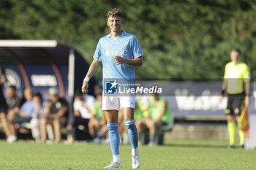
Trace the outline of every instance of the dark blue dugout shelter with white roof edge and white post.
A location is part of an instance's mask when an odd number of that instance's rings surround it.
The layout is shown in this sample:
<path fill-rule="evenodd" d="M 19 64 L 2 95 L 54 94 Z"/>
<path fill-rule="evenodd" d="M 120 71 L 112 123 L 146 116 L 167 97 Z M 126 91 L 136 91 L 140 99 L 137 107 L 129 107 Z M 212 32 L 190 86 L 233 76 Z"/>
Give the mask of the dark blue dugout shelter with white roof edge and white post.
<path fill-rule="evenodd" d="M 89 64 L 74 48 L 55 40 L 0 40 L 0 64 L 7 80 L 18 89 L 32 88 L 48 98 L 48 88 L 58 88 L 59 96 L 72 101 L 80 90 Z M 89 93 L 94 93 L 90 80 Z"/>

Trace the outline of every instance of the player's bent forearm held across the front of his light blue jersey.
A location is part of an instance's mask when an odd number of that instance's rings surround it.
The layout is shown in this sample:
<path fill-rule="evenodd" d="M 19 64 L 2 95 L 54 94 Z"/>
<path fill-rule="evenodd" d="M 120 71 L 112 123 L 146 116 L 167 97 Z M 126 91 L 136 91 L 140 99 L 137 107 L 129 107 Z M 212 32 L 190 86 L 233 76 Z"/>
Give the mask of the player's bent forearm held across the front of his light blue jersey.
<path fill-rule="evenodd" d="M 116 57 L 113 58 L 113 63 L 116 63 L 116 65 L 127 63 L 131 66 L 142 66 L 143 56 L 133 58 L 133 59 L 127 59 L 127 58 L 122 58 L 119 55 L 116 55 Z"/>

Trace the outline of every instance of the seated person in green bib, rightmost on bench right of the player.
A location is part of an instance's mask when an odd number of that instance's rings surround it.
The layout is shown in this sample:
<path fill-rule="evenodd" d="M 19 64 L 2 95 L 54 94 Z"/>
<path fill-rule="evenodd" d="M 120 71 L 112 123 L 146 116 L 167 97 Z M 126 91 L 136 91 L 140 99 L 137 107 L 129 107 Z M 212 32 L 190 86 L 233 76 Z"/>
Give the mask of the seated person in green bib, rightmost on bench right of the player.
<path fill-rule="evenodd" d="M 149 146 L 156 144 L 157 130 L 162 125 L 169 125 L 170 123 L 171 115 L 167 101 L 165 98 L 159 97 L 157 93 L 154 93 L 149 103 L 148 117 L 139 125 L 139 129 L 143 128 L 143 126 L 149 129 Z"/>

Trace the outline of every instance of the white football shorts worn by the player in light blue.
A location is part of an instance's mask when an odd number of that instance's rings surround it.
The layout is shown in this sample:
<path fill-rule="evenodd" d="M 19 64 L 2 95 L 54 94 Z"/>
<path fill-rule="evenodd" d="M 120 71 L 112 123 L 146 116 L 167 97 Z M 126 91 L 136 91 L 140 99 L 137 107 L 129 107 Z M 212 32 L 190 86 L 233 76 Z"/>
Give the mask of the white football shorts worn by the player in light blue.
<path fill-rule="evenodd" d="M 135 96 L 102 96 L 102 110 L 135 109 Z"/>

